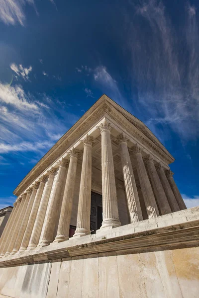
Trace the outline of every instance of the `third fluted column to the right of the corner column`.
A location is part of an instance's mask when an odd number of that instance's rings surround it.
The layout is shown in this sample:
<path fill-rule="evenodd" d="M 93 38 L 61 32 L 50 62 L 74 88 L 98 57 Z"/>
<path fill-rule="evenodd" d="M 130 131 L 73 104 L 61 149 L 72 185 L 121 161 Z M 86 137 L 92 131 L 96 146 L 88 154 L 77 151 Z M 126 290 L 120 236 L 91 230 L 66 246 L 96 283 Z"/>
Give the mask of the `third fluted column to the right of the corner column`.
<path fill-rule="evenodd" d="M 156 171 L 153 157 L 150 154 L 148 154 L 144 158 L 144 161 L 146 163 L 149 176 L 151 178 L 151 183 L 153 185 L 154 193 L 156 195 L 157 204 L 159 206 L 161 215 L 171 213 L 171 208 L 169 206 L 167 197 L 162 187 L 162 183 Z"/>

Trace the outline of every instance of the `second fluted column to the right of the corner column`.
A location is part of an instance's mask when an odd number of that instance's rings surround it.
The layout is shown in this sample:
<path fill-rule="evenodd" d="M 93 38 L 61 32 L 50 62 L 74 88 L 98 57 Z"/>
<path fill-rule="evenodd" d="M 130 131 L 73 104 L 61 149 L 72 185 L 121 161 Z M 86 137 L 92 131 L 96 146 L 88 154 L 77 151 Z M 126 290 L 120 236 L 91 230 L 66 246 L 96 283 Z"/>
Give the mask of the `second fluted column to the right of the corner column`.
<path fill-rule="evenodd" d="M 156 200 L 144 165 L 144 161 L 142 159 L 142 149 L 136 144 L 135 146 L 131 147 L 130 151 L 134 153 L 135 165 L 137 168 L 148 218 L 150 219 L 159 216 Z"/>

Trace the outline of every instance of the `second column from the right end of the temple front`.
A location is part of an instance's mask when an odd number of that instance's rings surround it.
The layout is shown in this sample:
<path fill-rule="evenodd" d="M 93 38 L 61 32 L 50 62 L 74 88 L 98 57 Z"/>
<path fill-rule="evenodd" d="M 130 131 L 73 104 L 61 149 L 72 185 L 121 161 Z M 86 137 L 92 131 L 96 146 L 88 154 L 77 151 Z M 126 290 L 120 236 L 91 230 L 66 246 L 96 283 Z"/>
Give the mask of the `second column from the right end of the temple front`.
<path fill-rule="evenodd" d="M 158 172 L 158 175 L 160 177 L 160 181 L 161 181 L 162 186 L 164 188 L 164 191 L 165 191 L 165 194 L 167 196 L 167 199 L 169 201 L 169 205 L 171 207 L 171 211 L 172 212 L 179 211 L 180 208 L 178 206 L 178 203 L 176 201 L 176 198 L 174 196 L 174 193 L 173 193 L 173 191 L 171 189 L 171 186 L 169 184 L 169 181 L 167 180 L 167 177 L 165 175 L 165 168 L 164 168 L 164 166 L 159 162 L 159 163 L 156 163 L 155 167 L 157 169 L 157 172 Z"/>

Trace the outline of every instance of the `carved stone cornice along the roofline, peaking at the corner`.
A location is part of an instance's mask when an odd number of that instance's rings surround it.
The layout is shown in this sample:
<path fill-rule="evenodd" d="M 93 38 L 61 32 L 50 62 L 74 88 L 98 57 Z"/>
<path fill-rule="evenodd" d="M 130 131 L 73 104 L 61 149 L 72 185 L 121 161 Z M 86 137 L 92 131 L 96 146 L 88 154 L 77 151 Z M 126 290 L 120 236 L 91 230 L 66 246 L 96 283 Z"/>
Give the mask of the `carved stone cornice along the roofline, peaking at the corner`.
<path fill-rule="evenodd" d="M 122 125 L 140 143 L 150 147 L 165 163 L 174 161 L 172 155 L 151 133 L 149 134 L 145 125 L 133 115 L 125 111 L 106 95 L 100 99 L 72 126 L 72 128 L 39 160 L 32 170 L 24 177 L 14 190 L 13 194 L 19 196 L 31 183 L 41 175 L 48 167 L 56 162 L 70 147 L 73 146 L 89 129 L 95 126 L 106 114 L 110 115 L 119 125 Z M 124 116 L 125 114 L 125 116 Z M 127 119 L 129 118 L 129 119 Z M 134 119 L 135 124 L 132 124 Z M 144 132 L 138 126 L 143 125 Z M 149 136 L 149 137 L 148 137 Z M 151 140 L 152 139 L 152 140 Z"/>

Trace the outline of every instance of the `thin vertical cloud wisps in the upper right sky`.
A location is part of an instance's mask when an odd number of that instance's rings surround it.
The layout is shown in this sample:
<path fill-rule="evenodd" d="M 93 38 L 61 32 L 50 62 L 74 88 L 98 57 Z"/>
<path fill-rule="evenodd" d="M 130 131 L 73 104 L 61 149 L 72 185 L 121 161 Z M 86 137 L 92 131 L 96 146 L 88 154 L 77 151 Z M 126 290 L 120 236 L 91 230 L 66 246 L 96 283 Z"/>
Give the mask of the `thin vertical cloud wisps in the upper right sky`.
<path fill-rule="evenodd" d="M 151 116 L 147 124 L 167 124 L 188 139 L 199 134 L 199 28 L 196 8 L 185 9 L 179 33 L 162 0 L 140 0 L 127 28 L 132 82 L 140 111 Z"/>

